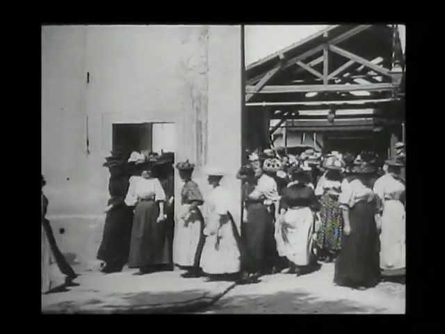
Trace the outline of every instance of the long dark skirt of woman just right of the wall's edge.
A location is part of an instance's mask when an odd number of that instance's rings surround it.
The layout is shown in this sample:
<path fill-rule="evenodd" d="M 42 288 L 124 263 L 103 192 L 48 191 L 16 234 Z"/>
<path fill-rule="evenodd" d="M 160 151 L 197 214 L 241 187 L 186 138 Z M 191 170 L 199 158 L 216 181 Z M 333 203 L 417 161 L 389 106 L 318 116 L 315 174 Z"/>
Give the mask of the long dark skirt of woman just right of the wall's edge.
<path fill-rule="evenodd" d="M 254 190 L 253 184 L 243 185 L 243 200 L 247 211 L 247 222 L 242 224 L 242 239 L 248 250 L 248 262 L 243 269 L 257 273 L 264 268 L 266 258 L 266 241 L 273 226 L 272 215 L 268 212 L 263 200 L 249 200 L 248 195 Z M 270 236 L 269 236 L 270 237 Z"/>

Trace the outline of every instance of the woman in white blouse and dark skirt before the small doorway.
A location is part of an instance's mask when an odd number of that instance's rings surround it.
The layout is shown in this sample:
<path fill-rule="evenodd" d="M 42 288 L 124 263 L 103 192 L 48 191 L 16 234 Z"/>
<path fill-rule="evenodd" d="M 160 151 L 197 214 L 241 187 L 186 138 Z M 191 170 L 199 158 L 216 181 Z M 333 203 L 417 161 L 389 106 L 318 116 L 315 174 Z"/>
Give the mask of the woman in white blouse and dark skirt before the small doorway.
<path fill-rule="evenodd" d="M 139 268 L 137 275 L 153 272 L 168 265 L 165 252 L 165 193 L 161 182 L 152 177 L 152 166 L 142 164 L 141 179 L 134 187 L 138 203 L 134 210 L 129 267 Z"/>

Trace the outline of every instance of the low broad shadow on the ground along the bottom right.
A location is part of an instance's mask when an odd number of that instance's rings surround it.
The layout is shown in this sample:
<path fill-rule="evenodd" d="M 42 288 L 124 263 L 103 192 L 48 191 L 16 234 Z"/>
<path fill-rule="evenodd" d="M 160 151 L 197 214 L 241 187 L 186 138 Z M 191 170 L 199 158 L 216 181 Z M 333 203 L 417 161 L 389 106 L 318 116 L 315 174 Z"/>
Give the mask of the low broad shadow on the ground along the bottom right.
<path fill-rule="evenodd" d="M 346 299 L 326 301 L 305 292 L 277 292 L 275 294 L 247 294 L 224 296 L 199 313 L 385 313 L 385 308 L 361 305 Z"/>

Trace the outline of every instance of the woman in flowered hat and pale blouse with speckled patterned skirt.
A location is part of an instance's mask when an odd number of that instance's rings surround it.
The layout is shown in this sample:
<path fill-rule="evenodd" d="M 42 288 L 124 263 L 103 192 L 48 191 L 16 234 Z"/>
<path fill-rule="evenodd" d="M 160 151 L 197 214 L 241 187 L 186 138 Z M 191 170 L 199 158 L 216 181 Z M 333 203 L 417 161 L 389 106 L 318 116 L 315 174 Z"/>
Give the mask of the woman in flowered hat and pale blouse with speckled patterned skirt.
<path fill-rule="evenodd" d="M 327 172 L 315 189 L 315 195 L 321 202 L 321 230 L 318 232 L 317 246 L 321 257 L 325 257 L 326 262 L 332 262 L 341 248 L 343 230 L 343 216 L 339 207 L 343 161 L 331 156 L 325 160 L 324 167 Z"/>

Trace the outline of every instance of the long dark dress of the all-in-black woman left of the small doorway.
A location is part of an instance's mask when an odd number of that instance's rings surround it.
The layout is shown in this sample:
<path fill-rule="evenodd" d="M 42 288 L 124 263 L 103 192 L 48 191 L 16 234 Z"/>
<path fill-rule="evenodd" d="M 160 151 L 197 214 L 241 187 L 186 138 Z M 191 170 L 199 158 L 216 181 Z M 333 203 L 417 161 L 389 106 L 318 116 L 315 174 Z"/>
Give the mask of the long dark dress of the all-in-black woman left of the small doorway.
<path fill-rule="evenodd" d="M 133 209 L 124 202 L 128 186 L 127 175 L 110 178 L 108 205 L 113 205 L 113 208 L 106 214 L 104 234 L 97 252 L 98 260 L 115 269 L 122 269 L 129 256 Z"/>

